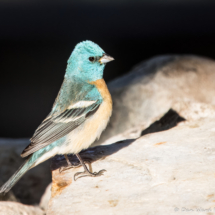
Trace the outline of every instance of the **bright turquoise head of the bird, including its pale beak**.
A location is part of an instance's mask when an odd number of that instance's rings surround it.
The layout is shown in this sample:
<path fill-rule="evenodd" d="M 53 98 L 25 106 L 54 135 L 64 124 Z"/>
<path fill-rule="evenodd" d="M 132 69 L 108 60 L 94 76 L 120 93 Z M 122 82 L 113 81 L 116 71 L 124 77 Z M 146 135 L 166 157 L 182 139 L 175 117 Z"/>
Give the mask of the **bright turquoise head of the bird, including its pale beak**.
<path fill-rule="evenodd" d="M 91 41 L 78 43 L 73 50 L 66 69 L 66 77 L 76 76 L 91 82 L 103 78 L 105 64 L 114 60 Z"/>

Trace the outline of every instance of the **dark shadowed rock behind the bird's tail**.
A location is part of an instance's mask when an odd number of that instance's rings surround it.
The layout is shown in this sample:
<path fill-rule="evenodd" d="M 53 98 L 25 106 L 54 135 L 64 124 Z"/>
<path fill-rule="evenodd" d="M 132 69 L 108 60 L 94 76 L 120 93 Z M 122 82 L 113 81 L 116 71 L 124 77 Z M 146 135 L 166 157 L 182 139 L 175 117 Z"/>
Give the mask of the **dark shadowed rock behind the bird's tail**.
<path fill-rule="evenodd" d="M 28 139 L 0 139 L 0 185 L 7 181 L 24 161 L 20 153 L 28 143 Z M 6 196 L 0 194 L 0 200 L 39 204 L 50 182 L 50 162 L 47 161 L 28 171 L 9 194 Z"/>

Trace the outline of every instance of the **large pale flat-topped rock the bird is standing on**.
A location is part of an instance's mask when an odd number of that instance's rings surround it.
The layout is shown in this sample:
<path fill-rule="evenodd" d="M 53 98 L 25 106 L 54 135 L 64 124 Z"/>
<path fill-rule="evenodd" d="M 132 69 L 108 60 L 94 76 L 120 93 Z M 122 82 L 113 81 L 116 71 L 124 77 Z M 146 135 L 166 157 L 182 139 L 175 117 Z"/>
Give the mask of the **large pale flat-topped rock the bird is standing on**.
<path fill-rule="evenodd" d="M 66 161 L 55 157 L 47 215 L 167 215 L 176 211 L 185 214 L 187 210 L 212 214 L 215 109 L 204 103 L 188 104 L 182 106 L 181 113 L 190 120 L 170 110 L 138 139 L 82 152 L 82 157 L 92 159 L 93 172 L 107 170 L 101 177 L 74 181 L 74 173 L 83 168 L 60 174 L 58 168 Z M 77 163 L 74 156 L 69 158 Z"/>

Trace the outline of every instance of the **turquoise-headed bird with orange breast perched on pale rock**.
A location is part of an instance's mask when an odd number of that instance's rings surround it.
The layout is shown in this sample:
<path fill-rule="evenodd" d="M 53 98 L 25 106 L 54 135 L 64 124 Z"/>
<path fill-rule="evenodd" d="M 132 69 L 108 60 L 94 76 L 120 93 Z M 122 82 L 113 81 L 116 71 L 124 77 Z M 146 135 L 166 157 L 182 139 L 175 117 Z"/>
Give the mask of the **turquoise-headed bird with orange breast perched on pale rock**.
<path fill-rule="evenodd" d="M 97 177 L 105 170 L 90 172 L 79 152 L 89 148 L 99 139 L 112 114 L 112 98 L 103 79 L 105 65 L 114 58 L 96 43 L 86 40 L 72 51 L 66 67 L 63 84 L 49 115 L 42 121 L 23 150 L 26 158 L 19 169 L 0 187 L 7 193 L 30 169 L 55 155 L 64 155 L 72 168 L 68 154 L 74 154 L 84 171 L 75 177 Z"/>

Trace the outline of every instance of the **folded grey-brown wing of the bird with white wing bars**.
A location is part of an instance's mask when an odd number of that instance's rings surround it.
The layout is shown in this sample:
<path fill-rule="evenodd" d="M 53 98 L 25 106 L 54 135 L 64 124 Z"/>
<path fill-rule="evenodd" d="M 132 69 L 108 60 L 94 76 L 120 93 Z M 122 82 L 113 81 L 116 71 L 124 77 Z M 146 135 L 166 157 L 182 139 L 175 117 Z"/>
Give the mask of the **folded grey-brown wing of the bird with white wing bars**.
<path fill-rule="evenodd" d="M 94 97 L 96 96 L 94 95 Z M 86 99 L 86 96 L 84 98 Z M 57 100 L 59 99 L 57 98 Z M 63 111 L 59 111 L 60 109 L 52 111 L 37 128 L 31 138 L 31 143 L 23 150 L 21 156 L 26 157 L 70 133 L 89 116 L 93 115 L 98 110 L 101 102 L 101 99 L 79 100 L 67 105 L 67 108 L 63 108 Z M 59 101 L 55 103 L 59 104 Z M 56 109 L 55 105 L 53 109 Z"/>

